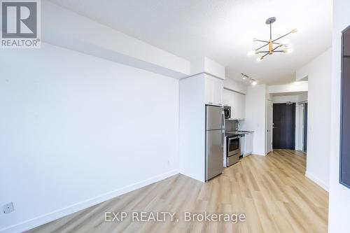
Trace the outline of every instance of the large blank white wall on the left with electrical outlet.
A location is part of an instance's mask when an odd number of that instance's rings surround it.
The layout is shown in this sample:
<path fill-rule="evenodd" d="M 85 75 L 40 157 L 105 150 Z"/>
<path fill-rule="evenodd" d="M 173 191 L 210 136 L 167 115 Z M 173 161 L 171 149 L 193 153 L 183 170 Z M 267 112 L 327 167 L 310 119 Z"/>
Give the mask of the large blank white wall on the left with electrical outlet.
<path fill-rule="evenodd" d="M 0 230 L 179 172 L 179 80 L 46 43 L 1 50 L 0 69 Z"/>

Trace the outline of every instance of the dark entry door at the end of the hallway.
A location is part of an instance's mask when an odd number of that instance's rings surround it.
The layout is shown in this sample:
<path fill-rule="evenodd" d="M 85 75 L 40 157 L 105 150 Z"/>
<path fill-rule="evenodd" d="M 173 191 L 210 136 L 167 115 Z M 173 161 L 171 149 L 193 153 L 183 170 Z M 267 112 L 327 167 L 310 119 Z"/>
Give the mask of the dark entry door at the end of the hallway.
<path fill-rule="evenodd" d="M 274 104 L 273 110 L 273 138 L 274 149 L 295 149 L 295 103 Z"/>

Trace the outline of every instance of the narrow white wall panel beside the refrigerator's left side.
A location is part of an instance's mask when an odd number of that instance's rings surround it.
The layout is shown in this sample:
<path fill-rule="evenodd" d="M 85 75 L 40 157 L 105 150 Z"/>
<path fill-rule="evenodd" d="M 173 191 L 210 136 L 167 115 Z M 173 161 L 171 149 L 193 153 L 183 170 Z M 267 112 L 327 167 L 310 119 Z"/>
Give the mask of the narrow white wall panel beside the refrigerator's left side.
<path fill-rule="evenodd" d="M 205 103 L 201 73 L 179 81 L 179 156 L 180 172 L 205 181 Z"/>

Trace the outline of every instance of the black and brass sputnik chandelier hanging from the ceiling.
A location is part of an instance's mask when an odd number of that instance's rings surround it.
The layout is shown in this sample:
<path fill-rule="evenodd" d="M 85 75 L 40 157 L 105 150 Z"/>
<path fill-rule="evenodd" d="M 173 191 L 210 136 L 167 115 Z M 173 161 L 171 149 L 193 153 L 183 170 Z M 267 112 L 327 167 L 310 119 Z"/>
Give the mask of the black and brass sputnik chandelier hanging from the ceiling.
<path fill-rule="evenodd" d="M 269 24 L 269 40 L 258 40 L 257 38 L 253 38 L 253 41 L 258 41 L 265 43 L 264 45 L 260 46 L 259 48 L 255 49 L 253 52 L 248 53 L 250 54 L 260 54 L 263 53 L 261 57 L 258 57 L 257 61 L 260 62 L 264 57 L 267 55 L 272 55 L 274 52 L 291 52 L 290 45 L 287 43 L 279 43 L 281 38 L 284 38 L 285 36 L 288 36 L 289 34 L 297 32 L 297 29 L 293 29 L 292 31 L 289 31 L 287 34 L 284 34 L 283 36 L 279 36 L 276 39 L 272 39 L 272 24 L 276 21 L 276 17 L 269 17 L 266 20 L 266 24 Z M 268 50 L 265 48 L 268 46 Z"/>

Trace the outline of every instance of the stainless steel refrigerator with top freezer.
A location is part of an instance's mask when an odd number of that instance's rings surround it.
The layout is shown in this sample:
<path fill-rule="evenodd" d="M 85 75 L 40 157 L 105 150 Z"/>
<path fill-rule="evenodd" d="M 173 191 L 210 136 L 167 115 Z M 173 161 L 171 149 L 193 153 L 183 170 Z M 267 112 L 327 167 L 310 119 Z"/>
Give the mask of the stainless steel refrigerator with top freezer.
<path fill-rule="evenodd" d="M 206 105 L 205 109 L 205 180 L 223 173 L 225 115 L 223 107 Z"/>

